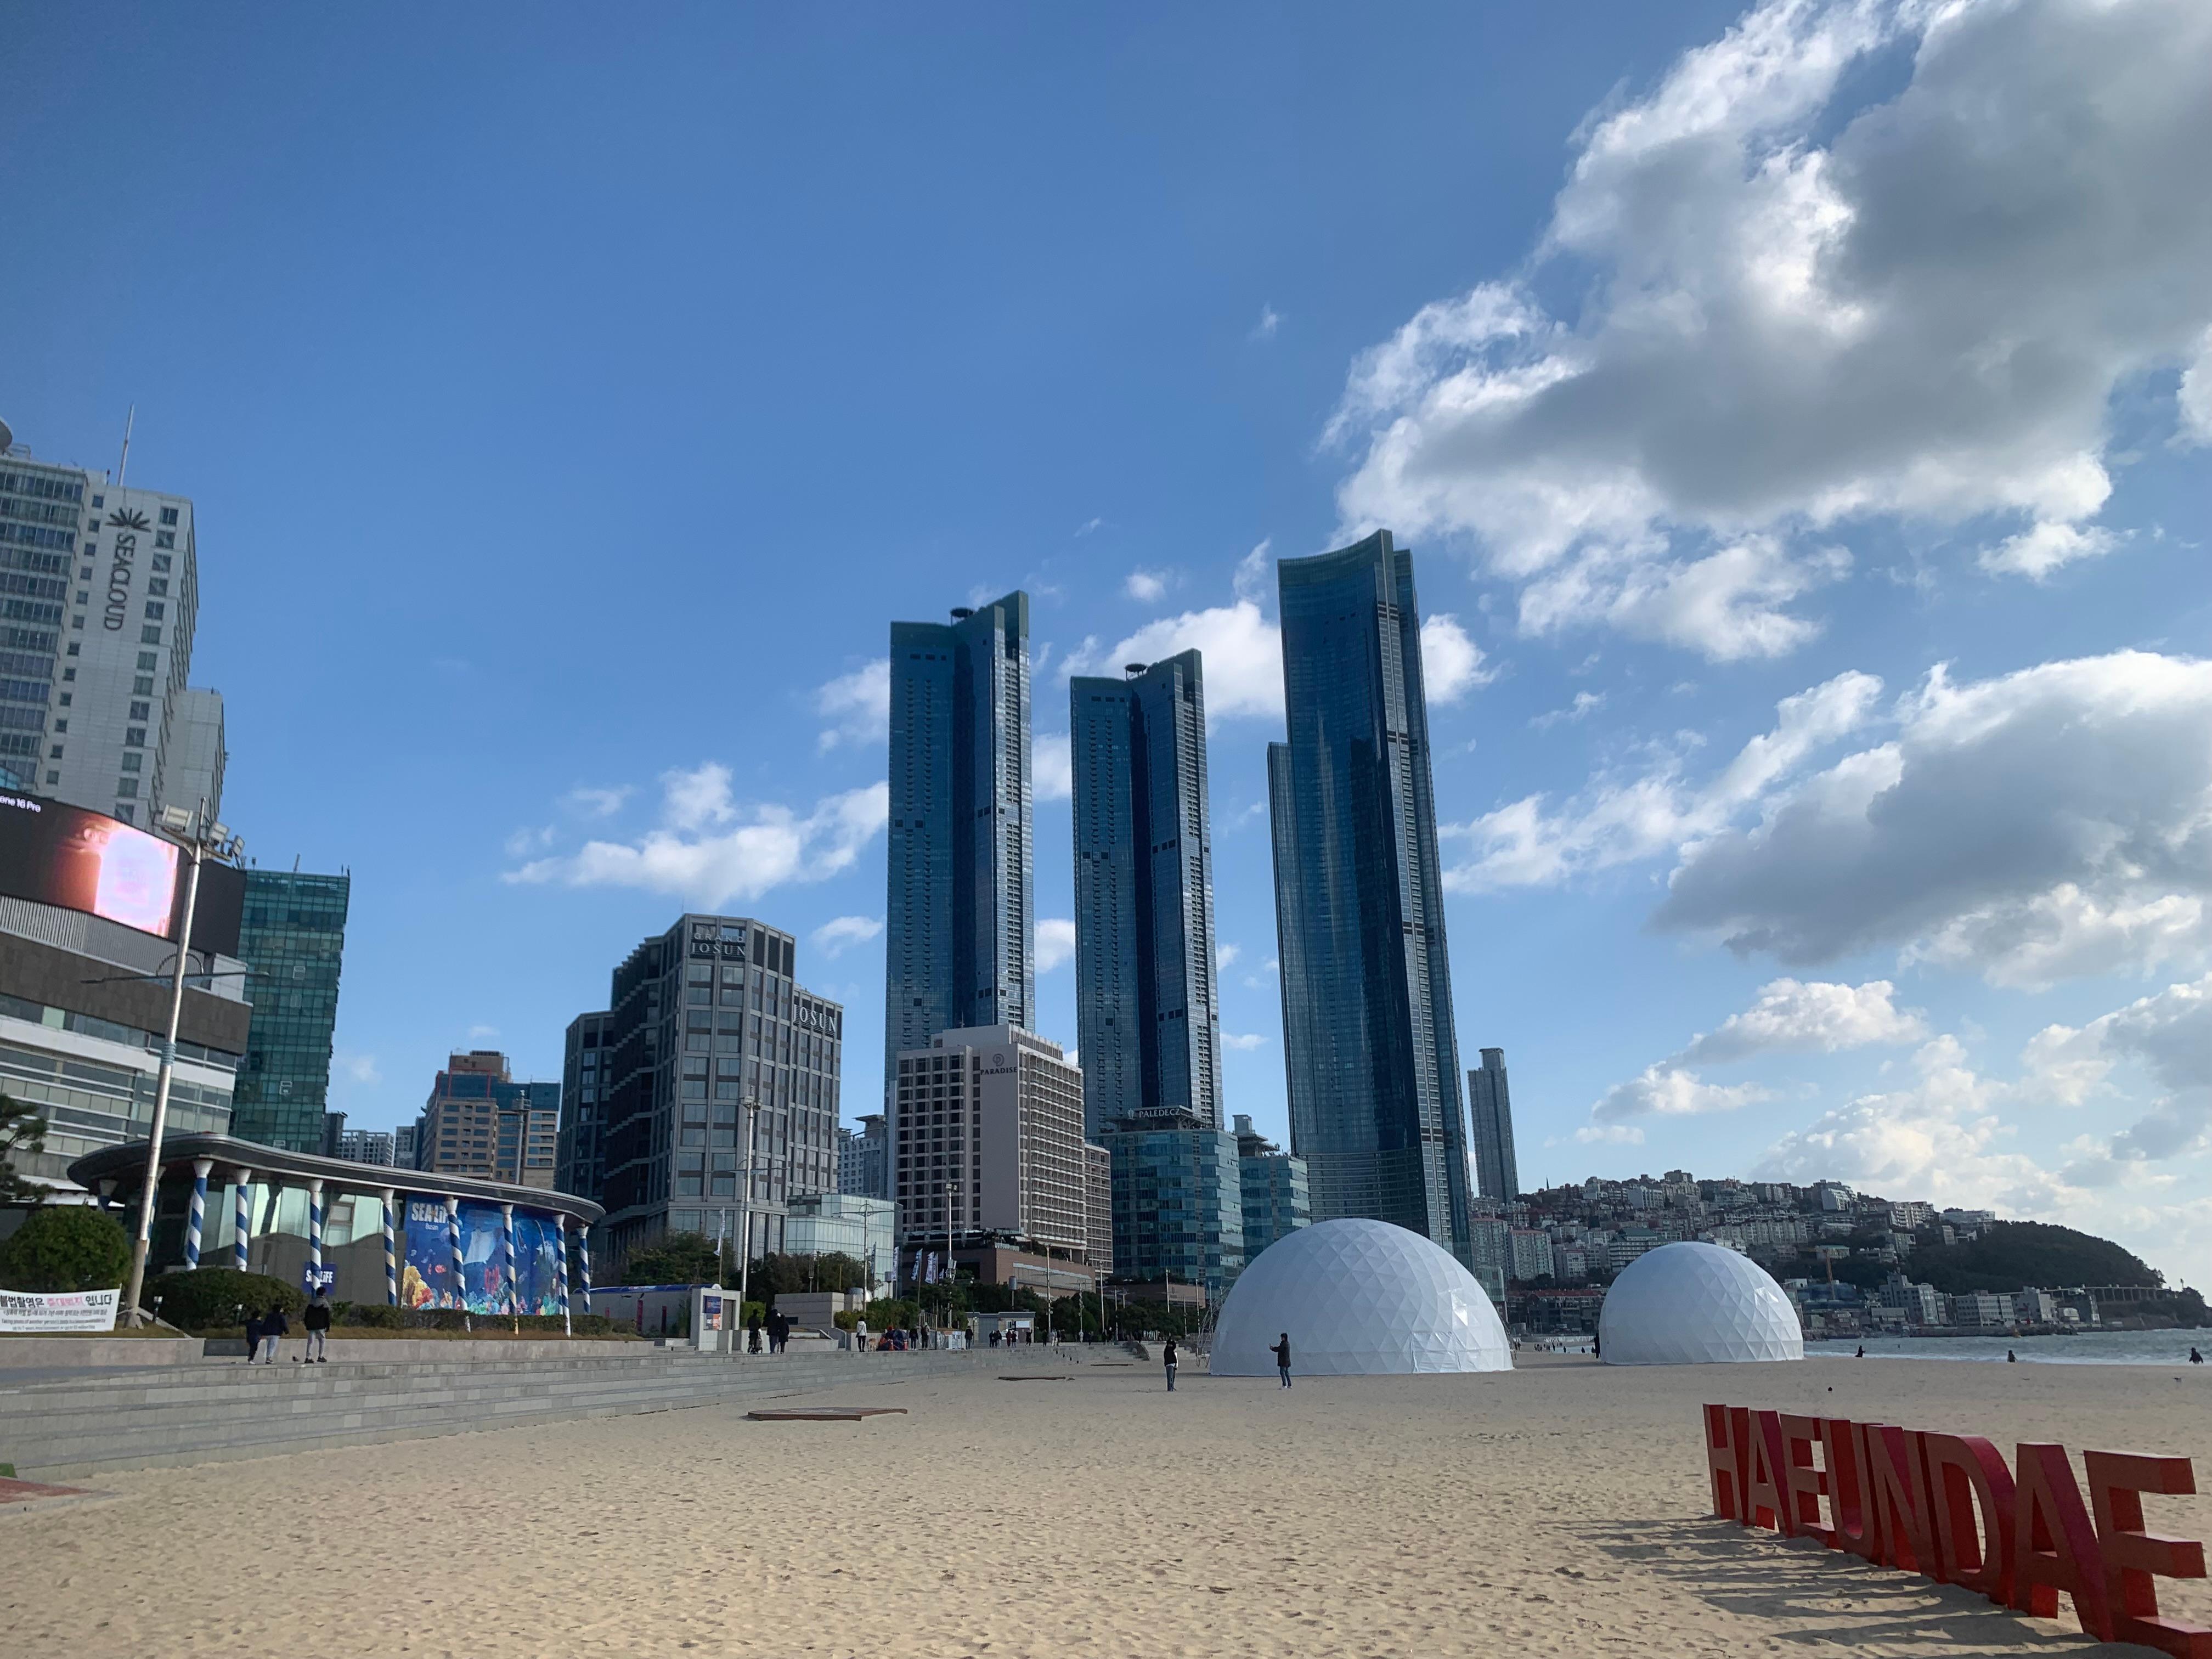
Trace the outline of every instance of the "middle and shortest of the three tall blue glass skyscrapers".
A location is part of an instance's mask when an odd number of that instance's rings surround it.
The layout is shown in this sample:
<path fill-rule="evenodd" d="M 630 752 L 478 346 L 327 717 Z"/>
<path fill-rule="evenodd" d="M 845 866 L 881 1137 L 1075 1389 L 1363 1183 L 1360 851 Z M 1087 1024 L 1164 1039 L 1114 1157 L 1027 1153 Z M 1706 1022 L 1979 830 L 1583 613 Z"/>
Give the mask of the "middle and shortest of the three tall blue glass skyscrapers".
<path fill-rule="evenodd" d="M 1206 675 L 1186 650 L 1068 681 L 1084 1126 L 1190 1110 L 1221 1128 Z"/>

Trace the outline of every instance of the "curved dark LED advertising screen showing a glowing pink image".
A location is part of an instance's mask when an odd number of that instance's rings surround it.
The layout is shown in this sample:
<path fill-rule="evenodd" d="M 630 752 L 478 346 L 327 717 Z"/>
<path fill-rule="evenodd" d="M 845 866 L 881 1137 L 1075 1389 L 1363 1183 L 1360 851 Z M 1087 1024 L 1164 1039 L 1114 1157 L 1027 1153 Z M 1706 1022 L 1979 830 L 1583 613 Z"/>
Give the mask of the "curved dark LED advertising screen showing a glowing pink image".
<path fill-rule="evenodd" d="M 0 894 L 177 938 L 184 878 L 184 852 L 173 841 L 104 812 L 0 792 Z M 246 874 L 204 863 L 192 949 L 237 956 L 243 909 Z"/>

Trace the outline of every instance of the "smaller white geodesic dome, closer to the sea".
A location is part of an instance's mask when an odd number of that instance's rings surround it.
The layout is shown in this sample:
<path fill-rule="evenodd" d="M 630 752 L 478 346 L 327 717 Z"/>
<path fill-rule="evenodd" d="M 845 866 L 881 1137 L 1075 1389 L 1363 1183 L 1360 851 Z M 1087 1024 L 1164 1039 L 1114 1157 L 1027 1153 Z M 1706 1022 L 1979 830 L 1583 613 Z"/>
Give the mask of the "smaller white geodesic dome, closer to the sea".
<path fill-rule="evenodd" d="M 1708 1243 L 1670 1243 L 1630 1261 L 1597 1314 L 1606 1365 L 1801 1360 L 1805 1334 L 1774 1274 Z"/>

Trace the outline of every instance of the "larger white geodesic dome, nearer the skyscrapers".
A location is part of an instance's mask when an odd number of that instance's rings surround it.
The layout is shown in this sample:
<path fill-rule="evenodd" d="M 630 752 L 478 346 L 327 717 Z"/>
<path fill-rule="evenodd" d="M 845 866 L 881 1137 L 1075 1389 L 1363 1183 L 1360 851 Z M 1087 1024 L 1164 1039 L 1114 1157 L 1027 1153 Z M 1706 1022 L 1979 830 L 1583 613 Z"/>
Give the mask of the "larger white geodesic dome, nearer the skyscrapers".
<path fill-rule="evenodd" d="M 1389 1221 L 1316 1221 L 1252 1259 L 1214 1323 L 1214 1376 L 1511 1371 L 1513 1343 L 1467 1267 Z"/>

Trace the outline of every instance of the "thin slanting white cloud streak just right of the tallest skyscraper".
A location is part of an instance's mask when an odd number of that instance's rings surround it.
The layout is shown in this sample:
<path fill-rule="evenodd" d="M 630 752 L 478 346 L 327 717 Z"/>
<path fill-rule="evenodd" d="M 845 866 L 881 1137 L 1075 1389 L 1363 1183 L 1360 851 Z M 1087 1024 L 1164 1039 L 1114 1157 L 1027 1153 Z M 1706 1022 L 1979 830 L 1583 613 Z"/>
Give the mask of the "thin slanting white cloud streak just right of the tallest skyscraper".
<path fill-rule="evenodd" d="M 1473 856 L 1444 872 L 1444 887 L 1473 894 L 1542 887 L 1595 869 L 1672 854 L 1756 810 L 1812 754 L 1874 714 L 1882 681 L 1836 675 L 1774 706 L 1774 730 L 1754 737 L 1708 783 L 1690 785 L 1681 754 L 1661 754 L 1637 776 L 1599 776 L 1557 812 L 1531 794 L 1444 834 Z"/>

